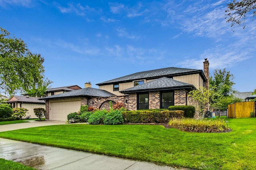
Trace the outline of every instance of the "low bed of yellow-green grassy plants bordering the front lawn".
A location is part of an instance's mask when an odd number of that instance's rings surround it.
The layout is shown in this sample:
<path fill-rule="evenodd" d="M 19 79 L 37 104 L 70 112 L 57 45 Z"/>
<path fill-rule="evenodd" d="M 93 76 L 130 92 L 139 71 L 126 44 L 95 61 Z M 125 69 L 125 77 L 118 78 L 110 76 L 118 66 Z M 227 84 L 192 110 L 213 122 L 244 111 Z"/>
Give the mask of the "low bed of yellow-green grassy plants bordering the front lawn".
<path fill-rule="evenodd" d="M 188 132 L 212 132 L 219 133 L 226 131 L 226 124 L 224 119 L 202 119 L 195 120 L 191 118 L 186 119 L 172 119 L 169 125 Z"/>

